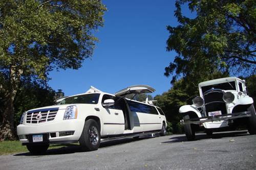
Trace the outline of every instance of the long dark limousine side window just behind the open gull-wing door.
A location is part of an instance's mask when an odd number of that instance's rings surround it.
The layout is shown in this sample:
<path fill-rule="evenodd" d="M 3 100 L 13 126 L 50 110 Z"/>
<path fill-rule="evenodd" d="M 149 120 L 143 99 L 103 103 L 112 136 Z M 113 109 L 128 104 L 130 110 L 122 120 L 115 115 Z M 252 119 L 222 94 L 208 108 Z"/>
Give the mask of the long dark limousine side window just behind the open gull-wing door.
<path fill-rule="evenodd" d="M 127 101 L 132 112 L 150 113 L 158 114 L 154 106 L 145 105 L 142 103 L 137 103 L 133 101 Z"/>

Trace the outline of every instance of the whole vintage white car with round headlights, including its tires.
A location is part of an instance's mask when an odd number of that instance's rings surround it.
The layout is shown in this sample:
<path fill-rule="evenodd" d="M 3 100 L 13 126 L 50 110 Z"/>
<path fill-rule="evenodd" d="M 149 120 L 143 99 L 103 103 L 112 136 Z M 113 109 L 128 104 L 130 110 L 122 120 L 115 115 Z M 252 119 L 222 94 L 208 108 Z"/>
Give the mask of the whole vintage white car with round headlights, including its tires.
<path fill-rule="evenodd" d="M 202 82 L 199 92 L 193 105 L 179 109 L 188 140 L 195 140 L 195 131 L 200 127 L 211 135 L 215 130 L 245 124 L 250 134 L 256 134 L 253 99 L 247 95 L 244 80 L 229 77 Z"/>

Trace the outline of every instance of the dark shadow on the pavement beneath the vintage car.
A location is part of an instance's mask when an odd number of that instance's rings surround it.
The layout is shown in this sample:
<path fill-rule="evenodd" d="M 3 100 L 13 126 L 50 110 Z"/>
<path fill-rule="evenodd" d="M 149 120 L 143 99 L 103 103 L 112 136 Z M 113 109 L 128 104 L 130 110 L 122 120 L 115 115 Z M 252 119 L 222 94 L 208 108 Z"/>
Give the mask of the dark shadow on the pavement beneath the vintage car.
<path fill-rule="evenodd" d="M 223 137 L 246 136 L 246 135 L 249 135 L 247 133 L 247 131 L 217 132 L 212 135 L 206 135 L 205 133 L 197 133 L 196 140 L 220 139 Z M 171 137 L 169 139 L 170 139 L 170 141 L 164 141 L 162 143 L 174 143 L 174 142 L 187 142 L 188 141 L 185 134 L 182 136 Z"/>

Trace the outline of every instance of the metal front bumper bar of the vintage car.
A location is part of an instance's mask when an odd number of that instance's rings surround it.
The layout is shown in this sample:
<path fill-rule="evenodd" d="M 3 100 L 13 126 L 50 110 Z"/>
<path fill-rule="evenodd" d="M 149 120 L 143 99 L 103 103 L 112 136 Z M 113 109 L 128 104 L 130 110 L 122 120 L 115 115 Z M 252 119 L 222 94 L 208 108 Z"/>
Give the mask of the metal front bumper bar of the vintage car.
<path fill-rule="evenodd" d="M 207 116 L 207 117 L 196 117 L 196 118 L 190 118 L 190 119 L 182 119 L 180 120 L 181 125 L 188 125 L 188 124 L 202 124 L 205 122 L 216 122 L 221 120 L 231 120 L 236 118 L 242 118 L 242 117 L 250 117 L 251 113 L 250 111 L 244 111 L 244 112 L 237 112 L 232 114 L 221 114 L 216 116 Z"/>

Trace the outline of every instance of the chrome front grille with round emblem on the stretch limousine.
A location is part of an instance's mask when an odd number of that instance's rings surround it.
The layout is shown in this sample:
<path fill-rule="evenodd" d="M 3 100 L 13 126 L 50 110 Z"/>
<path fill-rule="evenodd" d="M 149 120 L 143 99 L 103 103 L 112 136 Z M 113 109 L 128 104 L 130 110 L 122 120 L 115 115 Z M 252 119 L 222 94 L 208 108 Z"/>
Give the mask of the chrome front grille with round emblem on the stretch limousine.
<path fill-rule="evenodd" d="M 54 120 L 59 108 L 31 110 L 27 113 L 28 124 L 40 124 Z"/>

